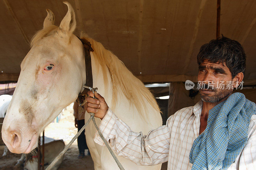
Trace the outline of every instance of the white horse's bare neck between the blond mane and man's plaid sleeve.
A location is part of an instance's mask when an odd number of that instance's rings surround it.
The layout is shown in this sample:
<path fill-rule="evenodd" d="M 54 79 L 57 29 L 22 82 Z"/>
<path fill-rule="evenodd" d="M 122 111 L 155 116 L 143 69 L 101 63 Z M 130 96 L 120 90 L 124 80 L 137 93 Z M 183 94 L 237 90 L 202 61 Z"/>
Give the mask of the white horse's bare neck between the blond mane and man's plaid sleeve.
<path fill-rule="evenodd" d="M 115 104 L 112 103 L 113 99 L 113 87 L 111 83 L 111 76 L 109 71 L 107 72 L 107 88 L 104 82 L 103 77 L 103 70 L 101 66 L 97 67 L 96 62 L 97 59 L 93 56 L 93 53 L 91 52 L 92 57 L 92 78 L 93 78 L 93 87 L 98 87 L 98 93 L 104 97 L 105 101 L 108 104 L 108 107 L 114 111 L 114 113 L 120 118 L 121 120 L 125 120 L 126 123 L 128 123 L 131 127 L 138 128 L 142 130 L 143 133 L 147 133 L 148 130 L 152 128 L 156 128 L 162 124 L 162 119 L 160 114 L 157 115 L 155 113 L 155 110 L 153 107 L 146 101 L 145 99 L 145 107 L 150 108 L 148 109 L 147 115 L 150 119 L 149 124 L 145 126 L 141 126 L 142 121 L 145 121 L 140 117 L 140 114 L 138 113 L 138 110 L 136 109 L 135 105 L 131 104 L 130 101 L 125 97 L 123 92 L 119 91 L 117 94 L 117 99 Z M 118 91 L 118 89 L 117 89 Z M 136 122 L 134 122 L 136 120 Z"/>

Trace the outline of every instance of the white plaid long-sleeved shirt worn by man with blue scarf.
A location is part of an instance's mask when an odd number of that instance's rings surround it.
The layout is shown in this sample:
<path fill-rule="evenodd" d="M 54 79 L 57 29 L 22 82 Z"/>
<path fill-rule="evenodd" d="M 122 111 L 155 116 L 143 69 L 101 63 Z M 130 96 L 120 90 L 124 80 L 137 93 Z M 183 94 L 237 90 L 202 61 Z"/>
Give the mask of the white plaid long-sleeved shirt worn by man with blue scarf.
<path fill-rule="evenodd" d="M 191 169 L 189 153 L 199 136 L 202 107 L 201 100 L 194 107 L 180 109 L 168 118 L 166 125 L 149 131 L 147 136 L 133 132 L 109 108 L 99 128 L 118 155 L 138 165 L 156 165 L 168 161 L 168 169 Z M 228 170 L 256 169 L 255 129 L 256 115 L 252 115 L 247 144 Z M 98 132 L 94 141 L 104 146 Z"/>

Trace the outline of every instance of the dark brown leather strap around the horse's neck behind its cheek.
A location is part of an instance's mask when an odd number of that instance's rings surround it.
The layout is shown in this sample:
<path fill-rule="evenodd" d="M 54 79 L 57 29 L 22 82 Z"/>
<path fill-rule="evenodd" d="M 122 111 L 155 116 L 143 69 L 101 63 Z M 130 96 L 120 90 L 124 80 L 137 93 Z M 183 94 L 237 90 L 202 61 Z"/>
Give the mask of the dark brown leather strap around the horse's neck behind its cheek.
<path fill-rule="evenodd" d="M 92 49 L 92 45 L 89 41 L 84 40 L 84 39 L 80 39 L 79 37 L 77 37 L 83 44 L 84 46 L 84 55 L 85 55 L 85 75 L 86 75 L 86 82 L 85 85 L 92 87 L 93 85 L 93 80 L 92 80 L 92 60 L 91 60 L 91 54 L 90 52 L 94 51 Z M 78 102 L 78 104 L 80 105 L 81 103 L 84 102 L 85 100 L 85 96 L 87 95 L 87 92 L 89 91 L 89 89 L 84 88 L 83 92 L 80 92 L 76 101 Z M 83 107 L 83 106 L 82 106 Z M 83 107 L 84 108 L 84 107 Z"/>

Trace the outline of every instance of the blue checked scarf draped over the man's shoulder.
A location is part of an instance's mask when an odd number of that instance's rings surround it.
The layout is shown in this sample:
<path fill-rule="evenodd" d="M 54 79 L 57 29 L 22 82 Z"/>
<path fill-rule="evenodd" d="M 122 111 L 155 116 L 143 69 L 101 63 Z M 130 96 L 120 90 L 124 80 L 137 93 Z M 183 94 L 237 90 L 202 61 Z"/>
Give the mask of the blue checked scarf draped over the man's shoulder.
<path fill-rule="evenodd" d="M 256 114 L 255 103 L 239 92 L 213 107 L 206 129 L 191 148 L 192 170 L 228 169 L 247 142 L 252 114 Z"/>

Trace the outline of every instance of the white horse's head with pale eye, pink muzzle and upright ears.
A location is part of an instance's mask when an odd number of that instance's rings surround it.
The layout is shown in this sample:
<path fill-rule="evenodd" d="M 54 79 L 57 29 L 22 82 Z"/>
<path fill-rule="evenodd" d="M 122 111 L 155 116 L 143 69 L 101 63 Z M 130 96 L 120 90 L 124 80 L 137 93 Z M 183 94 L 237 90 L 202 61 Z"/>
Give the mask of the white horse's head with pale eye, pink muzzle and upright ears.
<path fill-rule="evenodd" d="M 36 148 L 43 129 L 63 108 L 76 100 L 85 79 L 84 48 L 73 34 L 75 12 L 68 12 L 60 26 L 54 26 L 52 11 L 44 28 L 35 34 L 23 59 L 20 76 L 2 127 L 2 138 L 14 153 Z"/>

